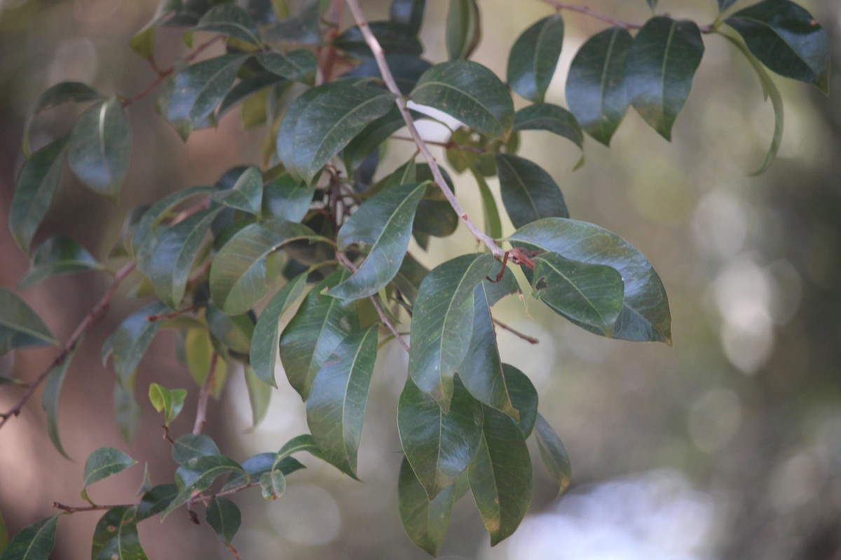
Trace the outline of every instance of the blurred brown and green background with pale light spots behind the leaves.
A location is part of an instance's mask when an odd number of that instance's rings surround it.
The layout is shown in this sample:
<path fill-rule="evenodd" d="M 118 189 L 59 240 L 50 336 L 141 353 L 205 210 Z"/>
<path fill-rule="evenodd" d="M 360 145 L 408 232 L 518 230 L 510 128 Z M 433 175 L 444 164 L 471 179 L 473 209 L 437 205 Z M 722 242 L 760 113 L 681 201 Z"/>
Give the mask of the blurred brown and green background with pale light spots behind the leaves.
<path fill-rule="evenodd" d="M 775 78 L 785 100 L 785 136 L 765 175 L 748 177 L 770 142 L 770 103 L 762 102 L 749 65 L 716 36 L 705 36 L 706 55 L 672 144 L 630 112 L 611 149 L 588 139 L 587 163 L 573 172 L 579 154 L 572 144 L 548 133 L 523 134 L 520 153 L 558 181 L 572 216 L 626 238 L 659 271 L 674 347 L 608 341 L 535 300 L 501 302 L 497 317 L 541 341 L 531 346 L 499 332 L 503 359 L 531 377 L 543 415 L 569 449 L 573 484 L 557 499 L 534 453 L 535 495 L 519 531 L 491 549 L 465 496 L 444 543 L 447 560 L 841 558 L 841 4 L 800 3 L 830 34 L 832 93 Z M 371 19 L 387 14 L 387 2 L 362 4 Z M 648 18 L 642 0 L 587 4 L 628 21 Z M 0 0 L 0 285 L 15 286 L 28 267 L 8 233 L 8 205 L 23 162 L 29 104 L 64 80 L 125 97 L 140 92 L 155 75 L 129 50 L 128 39 L 155 8 L 154 0 Z M 480 8 L 484 39 L 473 58 L 504 76 L 516 36 L 551 11 L 526 0 L 482 0 Z M 663 0 L 659 9 L 706 24 L 716 3 Z M 427 2 L 422 39 L 430 60 L 444 58 L 446 10 L 446 0 Z M 547 102 L 562 105 L 570 60 L 584 39 L 604 29 L 576 13 L 564 18 L 564 52 L 547 94 Z M 161 65 L 176 60 L 184 52 L 180 32 L 159 34 L 156 49 Z M 128 111 L 134 150 L 119 205 L 65 174 L 35 245 L 63 232 L 104 258 L 130 208 L 210 184 L 233 165 L 259 164 L 263 131 L 243 131 L 235 112 L 184 144 L 154 113 L 153 99 Z M 76 115 L 70 106 L 45 113 L 33 144 L 63 133 Z M 383 169 L 410 154 L 408 146 L 395 146 Z M 479 216 L 473 178 L 455 179 L 459 196 Z M 512 231 L 510 223 L 507 228 Z M 434 265 L 472 248 L 462 228 L 433 240 L 428 254 L 412 250 Z M 23 296 L 64 339 L 107 285 L 102 275 L 86 273 L 47 280 Z M 0 431 L 0 510 L 10 533 L 51 515 L 53 501 L 78 505 L 84 458 L 97 447 L 119 447 L 149 463 L 154 483 L 171 481 L 170 446 L 145 394 L 153 381 L 190 388 L 172 428 L 189 431 L 197 391 L 175 359 L 172 333 L 159 335 L 141 364 L 137 393 L 145 416 L 134 445 L 119 439 L 114 374 L 99 361 L 103 339 L 140 306 L 118 297 L 71 365 L 61 433 L 75 461 L 50 445 L 37 397 Z M 0 374 L 32 379 L 53 355 L 29 350 L 3 357 Z M 360 450 L 364 483 L 304 458 L 309 468 L 289 479 L 283 499 L 237 495 L 243 528 L 234 543 L 243 558 L 426 557 L 396 515 L 394 418 L 406 361 L 394 343 L 380 353 Z M 306 431 L 298 395 L 283 374 L 278 380 L 267 420 L 252 430 L 241 374 L 230 375 L 225 396 L 210 406 L 207 428 L 223 453 L 242 460 Z M 0 409 L 12 405 L 16 391 L 0 390 Z M 141 476 L 138 466 L 108 479 L 92 489 L 93 499 L 136 500 Z M 97 514 L 63 517 L 53 557 L 89 556 L 96 521 Z M 151 558 L 230 557 L 208 526 L 194 526 L 186 516 L 147 521 L 140 537 Z"/>

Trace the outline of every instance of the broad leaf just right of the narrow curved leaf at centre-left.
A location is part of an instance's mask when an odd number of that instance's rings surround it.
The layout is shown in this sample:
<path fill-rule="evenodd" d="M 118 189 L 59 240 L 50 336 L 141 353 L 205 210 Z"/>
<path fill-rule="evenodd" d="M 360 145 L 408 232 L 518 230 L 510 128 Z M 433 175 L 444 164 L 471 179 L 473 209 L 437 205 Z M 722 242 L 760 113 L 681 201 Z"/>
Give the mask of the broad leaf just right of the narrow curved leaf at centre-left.
<path fill-rule="evenodd" d="M 321 280 L 304 298 L 295 317 L 280 335 L 280 360 L 289 385 L 304 400 L 309 395 L 315 374 L 342 340 L 359 325 L 354 301 L 339 300 L 323 294 L 346 278 L 336 271 Z"/>

